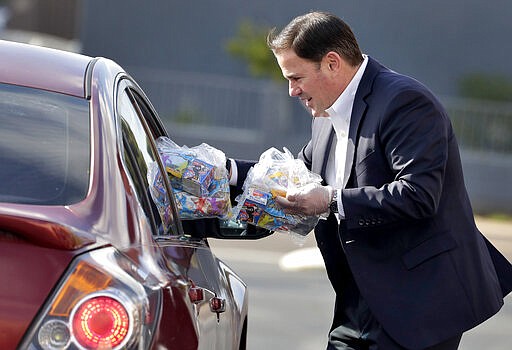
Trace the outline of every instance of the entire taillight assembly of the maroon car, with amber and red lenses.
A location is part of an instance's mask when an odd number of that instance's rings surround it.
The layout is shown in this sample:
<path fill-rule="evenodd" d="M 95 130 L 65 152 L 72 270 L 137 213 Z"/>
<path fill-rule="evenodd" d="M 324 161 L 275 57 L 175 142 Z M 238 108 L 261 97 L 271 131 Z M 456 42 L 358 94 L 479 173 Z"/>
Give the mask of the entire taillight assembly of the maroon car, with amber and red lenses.
<path fill-rule="evenodd" d="M 80 256 L 20 348 L 147 348 L 160 317 L 157 285 L 114 248 Z"/>

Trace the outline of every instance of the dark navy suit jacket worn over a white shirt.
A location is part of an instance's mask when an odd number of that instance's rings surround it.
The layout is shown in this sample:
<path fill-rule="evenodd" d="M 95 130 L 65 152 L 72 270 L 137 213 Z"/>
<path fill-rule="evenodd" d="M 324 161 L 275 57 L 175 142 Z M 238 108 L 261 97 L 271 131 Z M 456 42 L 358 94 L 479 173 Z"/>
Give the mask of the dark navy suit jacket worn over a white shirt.
<path fill-rule="evenodd" d="M 333 135 L 330 120 L 315 118 L 299 154 L 324 179 Z M 239 180 L 249 165 L 239 164 Z M 372 58 L 355 96 L 345 179 L 346 219 L 338 226 L 331 215 L 315 228 L 337 299 L 352 274 L 385 331 L 410 349 L 500 309 L 512 266 L 475 225 L 444 108 L 422 84 Z"/>

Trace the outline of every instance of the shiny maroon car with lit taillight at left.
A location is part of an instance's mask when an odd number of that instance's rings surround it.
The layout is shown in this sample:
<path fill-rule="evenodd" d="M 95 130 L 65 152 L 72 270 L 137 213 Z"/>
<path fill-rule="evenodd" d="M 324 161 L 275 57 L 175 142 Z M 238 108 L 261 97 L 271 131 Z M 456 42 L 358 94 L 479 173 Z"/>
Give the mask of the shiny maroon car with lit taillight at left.
<path fill-rule="evenodd" d="M 208 237 L 268 231 L 159 215 L 168 136 L 116 63 L 0 41 L 0 349 L 245 349 L 246 285 Z"/>

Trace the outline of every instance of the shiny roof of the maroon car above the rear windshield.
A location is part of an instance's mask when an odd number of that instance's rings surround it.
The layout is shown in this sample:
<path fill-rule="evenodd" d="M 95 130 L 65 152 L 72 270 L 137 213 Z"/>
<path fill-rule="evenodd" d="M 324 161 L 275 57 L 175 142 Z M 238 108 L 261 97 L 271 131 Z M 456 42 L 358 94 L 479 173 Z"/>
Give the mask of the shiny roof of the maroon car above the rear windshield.
<path fill-rule="evenodd" d="M 0 82 L 85 97 L 87 67 L 93 58 L 0 40 Z"/>

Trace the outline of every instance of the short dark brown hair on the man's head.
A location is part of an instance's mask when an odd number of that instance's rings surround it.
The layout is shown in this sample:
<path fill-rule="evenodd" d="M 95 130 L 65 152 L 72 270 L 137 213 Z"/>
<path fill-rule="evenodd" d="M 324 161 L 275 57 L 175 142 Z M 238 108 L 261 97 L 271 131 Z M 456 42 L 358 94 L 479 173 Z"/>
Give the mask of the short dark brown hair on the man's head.
<path fill-rule="evenodd" d="M 292 49 L 301 58 L 320 62 L 329 51 L 338 53 L 352 66 L 363 55 L 352 29 L 340 18 L 326 12 L 310 12 L 294 18 L 279 33 L 272 29 L 267 45 L 274 51 Z"/>

